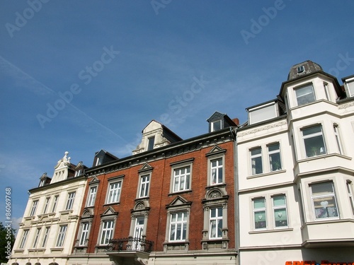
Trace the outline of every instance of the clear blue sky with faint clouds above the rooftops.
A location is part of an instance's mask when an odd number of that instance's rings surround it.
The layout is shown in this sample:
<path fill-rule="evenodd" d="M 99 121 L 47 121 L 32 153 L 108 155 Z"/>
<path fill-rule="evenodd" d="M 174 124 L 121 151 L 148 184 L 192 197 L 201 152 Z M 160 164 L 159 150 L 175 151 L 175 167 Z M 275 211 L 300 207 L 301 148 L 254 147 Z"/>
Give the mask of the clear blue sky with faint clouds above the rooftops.
<path fill-rule="evenodd" d="M 246 122 L 307 59 L 341 83 L 354 74 L 353 11 L 350 0 L 1 1 L 0 196 L 11 187 L 20 218 L 65 151 L 87 166 L 101 149 L 131 155 L 152 119 L 183 139 L 215 111 Z"/>

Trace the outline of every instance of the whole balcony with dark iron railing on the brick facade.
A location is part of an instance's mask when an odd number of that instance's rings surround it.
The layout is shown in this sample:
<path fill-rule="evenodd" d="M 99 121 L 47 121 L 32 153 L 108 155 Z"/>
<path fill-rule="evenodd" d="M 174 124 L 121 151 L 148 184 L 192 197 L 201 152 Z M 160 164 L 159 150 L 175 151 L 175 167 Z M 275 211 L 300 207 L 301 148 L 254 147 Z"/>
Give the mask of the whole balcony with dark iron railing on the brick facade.
<path fill-rule="evenodd" d="M 108 242 L 105 253 L 115 264 L 145 264 L 152 244 L 152 241 L 137 237 L 113 239 Z"/>

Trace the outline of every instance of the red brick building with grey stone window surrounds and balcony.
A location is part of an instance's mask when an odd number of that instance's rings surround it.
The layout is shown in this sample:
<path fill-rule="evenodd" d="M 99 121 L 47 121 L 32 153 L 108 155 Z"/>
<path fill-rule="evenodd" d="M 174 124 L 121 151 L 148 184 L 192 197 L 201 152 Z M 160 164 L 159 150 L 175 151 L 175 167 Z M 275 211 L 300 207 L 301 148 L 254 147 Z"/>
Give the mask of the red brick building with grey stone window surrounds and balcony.
<path fill-rule="evenodd" d="M 182 140 L 152 121 L 127 158 L 96 153 L 68 264 L 236 264 L 234 132 Z"/>

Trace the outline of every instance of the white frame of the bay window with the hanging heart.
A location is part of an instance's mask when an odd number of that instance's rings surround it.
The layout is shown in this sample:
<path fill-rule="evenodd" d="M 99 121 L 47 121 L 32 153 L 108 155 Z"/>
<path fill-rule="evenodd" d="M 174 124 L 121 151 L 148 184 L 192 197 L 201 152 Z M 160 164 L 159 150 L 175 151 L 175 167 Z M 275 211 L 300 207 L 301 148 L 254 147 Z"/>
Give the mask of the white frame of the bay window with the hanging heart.
<path fill-rule="evenodd" d="M 333 192 L 327 192 L 327 193 L 319 194 L 319 195 L 313 194 L 313 187 L 315 185 L 321 185 L 321 184 L 331 184 Z M 312 183 L 312 184 L 309 184 L 309 188 L 310 188 L 310 194 L 311 194 L 311 201 L 312 201 L 312 209 L 313 209 L 313 213 L 314 213 L 314 219 L 315 220 L 338 219 L 339 218 L 338 203 L 337 203 L 337 199 L 336 199 L 336 191 L 334 189 L 333 182 L 332 181 L 328 181 L 328 182 Z M 333 197 L 333 202 L 334 202 L 333 208 L 336 209 L 336 215 L 337 216 L 329 216 L 329 210 L 328 210 L 329 200 L 326 200 L 326 201 L 321 201 L 319 206 L 322 206 L 320 208 L 324 208 L 325 209 L 325 210 L 320 209 L 321 216 L 323 216 L 324 214 L 326 214 L 327 216 L 319 217 L 319 215 L 316 213 L 315 201 L 319 201 L 321 199 L 326 199 L 326 198 L 329 198 L 329 197 Z M 322 204 L 322 203 L 324 203 L 324 204 Z M 334 213 L 334 211 L 332 213 Z"/>

